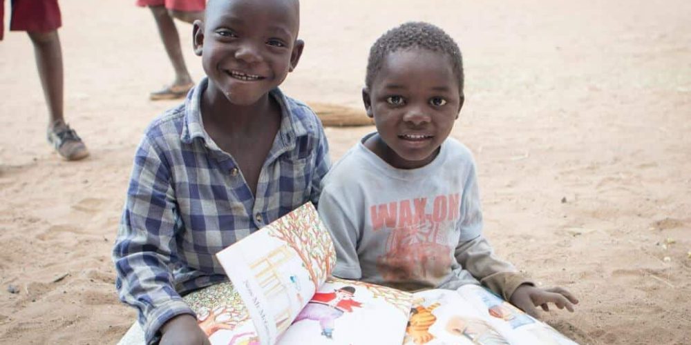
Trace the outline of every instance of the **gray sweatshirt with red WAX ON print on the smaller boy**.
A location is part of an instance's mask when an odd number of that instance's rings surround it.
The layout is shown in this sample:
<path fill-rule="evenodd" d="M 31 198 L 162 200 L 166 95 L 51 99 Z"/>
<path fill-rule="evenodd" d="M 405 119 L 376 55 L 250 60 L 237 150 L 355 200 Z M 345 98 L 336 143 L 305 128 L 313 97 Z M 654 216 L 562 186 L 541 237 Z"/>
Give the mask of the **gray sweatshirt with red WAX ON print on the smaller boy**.
<path fill-rule="evenodd" d="M 367 137 L 323 180 L 319 215 L 336 246 L 333 275 L 401 290 L 482 283 L 507 300 L 531 284 L 482 236 L 466 146 L 448 138 L 430 164 L 403 170 L 366 148 Z"/>

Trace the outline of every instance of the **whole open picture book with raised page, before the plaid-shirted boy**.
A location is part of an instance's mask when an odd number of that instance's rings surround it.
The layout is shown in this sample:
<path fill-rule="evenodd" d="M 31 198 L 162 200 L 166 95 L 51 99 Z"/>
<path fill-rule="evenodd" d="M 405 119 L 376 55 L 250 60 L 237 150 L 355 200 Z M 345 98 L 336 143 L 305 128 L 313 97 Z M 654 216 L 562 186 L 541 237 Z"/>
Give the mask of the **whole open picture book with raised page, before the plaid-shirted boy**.
<path fill-rule="evenodd" d="M 409 293 L 330 277 L 333 242 L 308 203 L 220 251 L 231 283 L 184 297 L 212 344 L 401 344 Z"/>

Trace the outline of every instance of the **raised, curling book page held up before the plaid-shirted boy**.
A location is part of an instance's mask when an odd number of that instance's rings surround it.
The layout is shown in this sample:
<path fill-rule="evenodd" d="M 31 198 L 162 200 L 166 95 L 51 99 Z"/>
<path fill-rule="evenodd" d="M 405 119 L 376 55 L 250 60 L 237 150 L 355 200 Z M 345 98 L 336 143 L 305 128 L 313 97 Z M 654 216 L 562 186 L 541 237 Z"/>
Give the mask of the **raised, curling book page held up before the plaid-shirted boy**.
<path fill-rule="evenodd" d="M 216 254 L 245 301 L 261 344 L 275 344 L 336 262 L 311 203 Z"/>

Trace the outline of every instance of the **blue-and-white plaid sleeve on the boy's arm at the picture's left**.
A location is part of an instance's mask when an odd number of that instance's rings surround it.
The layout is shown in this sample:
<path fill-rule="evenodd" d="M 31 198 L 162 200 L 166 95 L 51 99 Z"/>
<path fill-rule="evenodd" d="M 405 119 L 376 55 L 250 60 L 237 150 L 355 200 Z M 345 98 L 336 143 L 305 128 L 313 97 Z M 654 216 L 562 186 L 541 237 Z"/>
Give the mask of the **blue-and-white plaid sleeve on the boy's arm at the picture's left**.
<path fill-rule="evenodd" d="M 138 309 L 147 344 L 158 340 L 158 330 L 172 317 L 194 315 L 173 285 L 171 257 L 180 228 L 175 205 L 169 164 L 155 142 L 144 137 L 135 154 L 113 262 L 120 299 Z"/>

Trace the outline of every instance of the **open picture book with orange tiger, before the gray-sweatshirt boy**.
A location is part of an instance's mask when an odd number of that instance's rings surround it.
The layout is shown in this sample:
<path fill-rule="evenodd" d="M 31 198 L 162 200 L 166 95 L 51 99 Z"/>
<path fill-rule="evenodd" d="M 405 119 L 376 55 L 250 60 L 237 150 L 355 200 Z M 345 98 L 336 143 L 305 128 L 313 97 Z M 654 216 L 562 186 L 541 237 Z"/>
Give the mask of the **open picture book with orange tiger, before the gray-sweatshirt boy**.
<path fill-rule="evenodd" d="M 404 344 L 576 344 L 476 285 L 415 293 Z"/>

